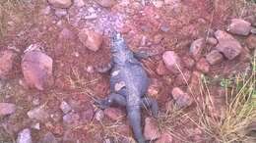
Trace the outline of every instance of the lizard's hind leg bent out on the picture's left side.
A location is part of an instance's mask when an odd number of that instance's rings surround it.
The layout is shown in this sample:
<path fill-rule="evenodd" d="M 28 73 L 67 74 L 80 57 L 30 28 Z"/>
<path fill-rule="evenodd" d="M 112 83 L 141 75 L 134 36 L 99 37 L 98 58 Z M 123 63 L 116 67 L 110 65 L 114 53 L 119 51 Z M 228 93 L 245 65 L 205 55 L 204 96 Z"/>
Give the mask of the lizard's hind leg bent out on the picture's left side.
<path fill-rule="evenodd" d="M 107 98 L 96 100 L 96 105 L 100 109 L 106 109 L 110 107 L 113 104 L 117 104 L 118 106 L 125 107 L 126 106 L 126 99 L 124 96 L 117 94 L 117 93 L 111 93 L 108 95 Z"/>

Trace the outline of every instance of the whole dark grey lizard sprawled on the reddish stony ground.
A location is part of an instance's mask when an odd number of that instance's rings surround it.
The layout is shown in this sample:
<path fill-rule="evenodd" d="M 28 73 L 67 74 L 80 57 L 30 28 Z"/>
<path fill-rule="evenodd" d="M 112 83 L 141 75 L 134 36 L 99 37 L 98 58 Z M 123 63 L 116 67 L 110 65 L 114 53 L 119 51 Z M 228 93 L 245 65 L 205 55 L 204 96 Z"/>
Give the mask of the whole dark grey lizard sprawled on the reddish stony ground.
<path fill-rule="evenodd" d="M 111 70 L 111 93 L 102 100 L 97 100 L 97 106 L 101 109 L 117 104 L 126 107 L 128 119 L 136 140 L 145 143 L 141 124 L 141 107 L 150 108 L 153 116 L 158 116 L 158 102 L 146 97 L 150 79 L 143 69 L 138 58 L 145 58 L 145 53 L 133 53 L 126 45 L 120 33 L 112 35 L 111 54 L 112 60 L 107 70 Z M 103 71 L 101 71 L 103 72 Z"/>

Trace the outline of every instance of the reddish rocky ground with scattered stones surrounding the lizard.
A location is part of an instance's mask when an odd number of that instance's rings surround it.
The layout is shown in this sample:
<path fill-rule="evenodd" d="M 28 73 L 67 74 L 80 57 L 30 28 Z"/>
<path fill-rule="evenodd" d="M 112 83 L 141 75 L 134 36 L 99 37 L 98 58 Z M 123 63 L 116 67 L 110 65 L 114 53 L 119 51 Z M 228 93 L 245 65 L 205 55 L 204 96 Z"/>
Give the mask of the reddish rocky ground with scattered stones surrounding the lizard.
<path fill-rule="evenodd" d="M 218 142 L 191 120 L 200 80 L 252 71 L 256 47 L 256 5 L 243 0 L 4 0 L 0 20 L 4 143 L 134 142 L 124 109 L 94 105 L 109 92 L 96 67 L 109 63 L 113 29 L 154 55 L 143 64 L 160 119 L 144 112 L 146 139 Z M 221 117 L 224 88 L 212 81 L 210 112 Z"/>

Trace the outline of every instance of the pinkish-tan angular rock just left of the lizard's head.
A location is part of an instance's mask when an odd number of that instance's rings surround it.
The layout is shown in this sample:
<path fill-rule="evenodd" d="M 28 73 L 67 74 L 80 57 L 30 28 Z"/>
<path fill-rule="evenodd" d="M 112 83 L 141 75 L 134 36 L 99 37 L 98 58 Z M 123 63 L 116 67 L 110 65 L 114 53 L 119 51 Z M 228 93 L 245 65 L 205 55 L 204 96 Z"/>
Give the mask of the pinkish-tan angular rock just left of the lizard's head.
<path fill-rule="evenodd" d="M 79 34 L 80 41 L 90 50 L 97 51 L 103 41 L 102 35 L 94 30 L 82 29 Z"/>

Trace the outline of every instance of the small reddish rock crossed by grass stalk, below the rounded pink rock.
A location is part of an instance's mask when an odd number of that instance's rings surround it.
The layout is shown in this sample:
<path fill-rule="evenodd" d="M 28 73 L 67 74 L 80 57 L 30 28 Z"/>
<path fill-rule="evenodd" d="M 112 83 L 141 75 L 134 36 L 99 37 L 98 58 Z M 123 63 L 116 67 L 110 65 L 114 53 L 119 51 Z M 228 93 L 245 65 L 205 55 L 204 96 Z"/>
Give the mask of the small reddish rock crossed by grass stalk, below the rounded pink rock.
<path fill-rule="evenodd" d="M 176 78 L 174 85 L 175 86 L 182 86 L 182 85 L 187 85 L 190 81 L 191 77 L 191 71 L 182 71 L 182 73 L 179 73 Z"/>

